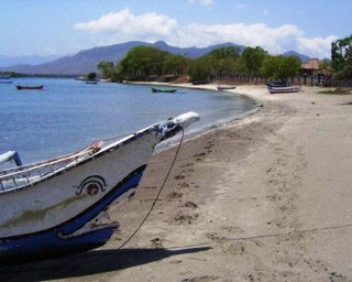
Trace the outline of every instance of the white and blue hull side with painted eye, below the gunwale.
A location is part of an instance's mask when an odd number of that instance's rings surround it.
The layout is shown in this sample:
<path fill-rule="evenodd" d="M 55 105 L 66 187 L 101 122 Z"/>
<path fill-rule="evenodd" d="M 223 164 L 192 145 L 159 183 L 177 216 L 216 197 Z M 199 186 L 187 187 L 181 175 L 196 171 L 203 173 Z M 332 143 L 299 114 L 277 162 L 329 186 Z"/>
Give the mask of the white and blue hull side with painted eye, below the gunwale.
<path fill-rule="evenodd" d="M 0 259 L 75 253 L 106 243 L 118 225 L 97 228 L 95 221 L 134 192 L 157 141 L 155 131 L 145 132 L 55 177 L 1 195 Z"/>

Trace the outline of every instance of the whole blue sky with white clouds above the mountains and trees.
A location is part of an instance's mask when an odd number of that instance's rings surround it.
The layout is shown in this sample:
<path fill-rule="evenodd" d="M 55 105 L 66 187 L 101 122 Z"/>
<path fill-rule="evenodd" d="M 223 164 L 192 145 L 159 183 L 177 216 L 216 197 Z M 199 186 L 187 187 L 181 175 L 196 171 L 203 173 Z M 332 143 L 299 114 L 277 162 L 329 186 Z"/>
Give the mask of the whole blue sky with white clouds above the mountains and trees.
<path fill-rule="evenodd" d="M 73 55 L 127 41 L 232 42 L 330 57 L 351 0 L 0 0 L 0 55 Z"/>

